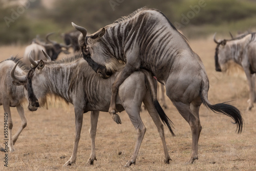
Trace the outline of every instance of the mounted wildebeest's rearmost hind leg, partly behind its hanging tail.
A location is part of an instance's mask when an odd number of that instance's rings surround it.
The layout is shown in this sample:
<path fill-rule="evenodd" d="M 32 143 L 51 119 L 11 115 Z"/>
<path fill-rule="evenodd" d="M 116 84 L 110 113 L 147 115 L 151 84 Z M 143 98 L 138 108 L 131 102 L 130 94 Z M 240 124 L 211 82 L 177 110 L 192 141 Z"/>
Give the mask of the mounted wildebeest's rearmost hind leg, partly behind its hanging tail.
<path fill-rule="evenodd" d="M 148 92 L 145 95 L 143 103 L 145 104 L 145 107 L 146 107 L 148 113 L 150 113 L 150 116 L 152 117 L 155 125 L 157 126 L 157 131 L 158 131 L 158 133 L 160 135 L 160 138 L 162 140 L 163 150 L 164 150 L 164 163 L 169 164 L 169 161 L 172 160 L 172 159 L 170 158 L 170 156 L 168 154 L 168 151 L 167 151 L 167 146 L 166 146 L 165 137 L 164 137 L 163 124 L 162 124 L 162 122 L 161 122 L 161 120 L 158 116 L 156 108 L 154 107 L 150 92 Z"/>

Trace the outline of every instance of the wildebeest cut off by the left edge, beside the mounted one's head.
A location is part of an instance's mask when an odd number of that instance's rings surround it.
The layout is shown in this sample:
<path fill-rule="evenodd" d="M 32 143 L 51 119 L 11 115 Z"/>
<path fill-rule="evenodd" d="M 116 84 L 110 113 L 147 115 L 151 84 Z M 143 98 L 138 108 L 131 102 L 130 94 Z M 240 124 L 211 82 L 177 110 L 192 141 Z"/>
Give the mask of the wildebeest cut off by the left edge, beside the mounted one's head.
<path fill-rule="evenodd" d="M 12 68 L 18 63 L 20 58 L 18 57 L 10 57 L 2 62 L 0 62 L 0 105 L 3 105 L 4 112 L 7 113 L 8 116 L 8 147 L 10 152 L 13 152 L 15 149 L 13 145 L 15 144 L 16 140 L 18 139 L 19 134 L 23 131 L 23 129 L 27 125 L 27 120 L 24 115 L 24 109 L 22 104 L 26 101 L 26 89 L 24 87 L 16 87 L 14 86 L 13 82 L 17 84 L 11 77 L 11 70 Z M 18 63 L 18 67 L 15 71 L 16 77 L 18 78 L 19 75 L 27 74 L 28 68 L 22 63 Z M 10 107 L 16 107 L 20 119 L 22 119 L 22 124 L 20 125 L 18 131 L 13 136 L 12 135 L 12 117 Z M 5 132 L 7 133 L 7 132 Z M 5 137 L 5 139 L 8 139 Z M 7 150 L 7 149 L 5 149 Z M 3 149 L 2 149 L 3 151 Z"/>

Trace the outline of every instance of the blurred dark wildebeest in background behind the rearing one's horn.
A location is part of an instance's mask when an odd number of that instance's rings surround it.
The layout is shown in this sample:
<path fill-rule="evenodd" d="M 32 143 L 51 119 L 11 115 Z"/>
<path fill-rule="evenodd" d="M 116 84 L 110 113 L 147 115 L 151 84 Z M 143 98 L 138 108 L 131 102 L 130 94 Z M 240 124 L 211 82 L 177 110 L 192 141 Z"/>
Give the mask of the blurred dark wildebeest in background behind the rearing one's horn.
<path fill-rule="evenodd" d="M 71 47 L 74 49 L 75 52 L 80 51 L 80 46 L 78 44 L 79 35 L 80 35 L 80 32 L 77 30 L 62 34 L 65 44 L 67 46 L 71 45 Z"/>

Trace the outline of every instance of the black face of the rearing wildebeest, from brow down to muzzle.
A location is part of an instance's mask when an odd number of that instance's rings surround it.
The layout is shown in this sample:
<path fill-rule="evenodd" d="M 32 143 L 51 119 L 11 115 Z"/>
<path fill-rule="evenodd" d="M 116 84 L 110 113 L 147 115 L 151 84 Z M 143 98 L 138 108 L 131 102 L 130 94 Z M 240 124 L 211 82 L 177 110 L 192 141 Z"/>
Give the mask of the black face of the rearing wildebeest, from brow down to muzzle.
<path fill-rule="evenodd" d="M 84 49 L 86 47 L 81 48 L 82 49 L 82 55 L 83 59 L 86 60 L 89 64 L 89 66 L 102 78 L 109 78 L 113 73 L 111 71 L 107 71 L 106 67 L 96 63 L 92 58 L 90 54 L 85 54 Z"/>

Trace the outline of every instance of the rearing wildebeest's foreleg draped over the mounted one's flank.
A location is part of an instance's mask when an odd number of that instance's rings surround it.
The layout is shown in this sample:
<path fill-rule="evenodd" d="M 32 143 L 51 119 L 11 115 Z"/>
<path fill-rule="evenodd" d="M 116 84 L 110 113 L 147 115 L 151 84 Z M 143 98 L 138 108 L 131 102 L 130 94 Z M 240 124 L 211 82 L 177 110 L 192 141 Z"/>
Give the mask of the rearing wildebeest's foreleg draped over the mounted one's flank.
<path fill-rule="evenodd" d="M 136 70 L 136 68 L 129 65 L 129 63 L 126 63 L 124 69 L 121 71 L 121 73 L 118 75 L 118 77 L 116 78 L 115 82 L 112 85 L 112 97 L 111 97 L 111 101 L 110 101 L 109 113 L 110 113 L 112 119 L 117 124 L 121 124 L 121 119 L 116 114 L 117 113 L 117 110 L 116 110 L 116 96 L 118 94 L 118 89 L 119 89 L 120 85 L 123 83 L 123 81 L 127 77 L 129 77 L 135 70 Z"/>

